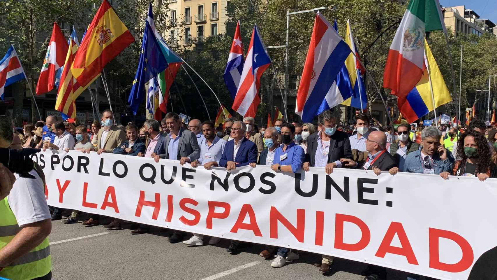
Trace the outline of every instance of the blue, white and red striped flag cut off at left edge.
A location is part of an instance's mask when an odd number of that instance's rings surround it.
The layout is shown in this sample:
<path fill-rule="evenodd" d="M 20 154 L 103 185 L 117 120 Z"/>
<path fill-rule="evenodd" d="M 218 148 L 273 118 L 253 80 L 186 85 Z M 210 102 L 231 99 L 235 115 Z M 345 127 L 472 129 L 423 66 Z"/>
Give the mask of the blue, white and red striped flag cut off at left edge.
<path fill-rule="evenodd" d="M 0 60 L 0 99 L 3 100 L 3 89 L 6 86 L 26 79 L 21 61 L 13 45 L 10 45 L 5 56 Z"/>

